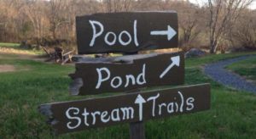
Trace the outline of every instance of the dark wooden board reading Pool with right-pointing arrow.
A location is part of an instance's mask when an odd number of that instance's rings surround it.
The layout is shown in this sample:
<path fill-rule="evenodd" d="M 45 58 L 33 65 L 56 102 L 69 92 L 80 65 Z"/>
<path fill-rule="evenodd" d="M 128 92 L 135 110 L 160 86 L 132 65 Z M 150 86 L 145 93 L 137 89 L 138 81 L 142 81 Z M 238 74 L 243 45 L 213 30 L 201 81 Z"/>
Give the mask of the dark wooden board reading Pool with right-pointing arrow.
<path fill-rule="evenodd" d="M 176 12 L 91 14 L 76 18 L 79 54 L 177 47 Z"/>

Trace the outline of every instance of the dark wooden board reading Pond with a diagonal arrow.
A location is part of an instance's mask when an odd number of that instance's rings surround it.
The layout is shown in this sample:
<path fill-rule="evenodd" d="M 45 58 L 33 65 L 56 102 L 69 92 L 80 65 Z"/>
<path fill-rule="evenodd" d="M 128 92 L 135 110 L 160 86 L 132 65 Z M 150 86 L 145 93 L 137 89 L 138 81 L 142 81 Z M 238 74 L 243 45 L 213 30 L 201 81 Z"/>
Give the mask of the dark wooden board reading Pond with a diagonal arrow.
<path fill-rule="evenodd" d="M 182 85 L 184 82 L 183 53 L 77 57 L 74 60 L 78 63 L 75 74 L 70 75 L 73 95 L 125 92 L 146 86 Z"/>

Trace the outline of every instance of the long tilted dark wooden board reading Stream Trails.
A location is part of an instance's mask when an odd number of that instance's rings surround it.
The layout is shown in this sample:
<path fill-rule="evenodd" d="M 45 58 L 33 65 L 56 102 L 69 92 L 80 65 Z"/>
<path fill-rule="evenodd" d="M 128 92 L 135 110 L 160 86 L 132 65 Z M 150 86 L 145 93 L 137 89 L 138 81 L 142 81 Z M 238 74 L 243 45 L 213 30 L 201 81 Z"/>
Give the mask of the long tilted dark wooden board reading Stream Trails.
<path fill-rule="evenodd" d="M 48 103 L 39 111 L 57 134 L 95 127 L 153 120 L 210 108 L 210 85 L 129 93 L 64 103 Z"/>

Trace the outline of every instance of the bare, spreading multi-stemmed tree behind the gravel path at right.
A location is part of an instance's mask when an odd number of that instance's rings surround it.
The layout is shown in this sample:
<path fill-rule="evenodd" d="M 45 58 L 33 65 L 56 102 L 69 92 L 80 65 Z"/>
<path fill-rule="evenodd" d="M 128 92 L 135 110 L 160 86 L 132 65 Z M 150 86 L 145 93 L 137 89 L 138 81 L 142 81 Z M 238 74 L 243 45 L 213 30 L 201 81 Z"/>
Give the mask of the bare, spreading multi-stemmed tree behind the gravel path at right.
<path fill-rule="evenodd" d="M 210 53 L 216 53 L 218 45 L 232 28 L 244 8 L 253 0 L 208 0 Z"/>

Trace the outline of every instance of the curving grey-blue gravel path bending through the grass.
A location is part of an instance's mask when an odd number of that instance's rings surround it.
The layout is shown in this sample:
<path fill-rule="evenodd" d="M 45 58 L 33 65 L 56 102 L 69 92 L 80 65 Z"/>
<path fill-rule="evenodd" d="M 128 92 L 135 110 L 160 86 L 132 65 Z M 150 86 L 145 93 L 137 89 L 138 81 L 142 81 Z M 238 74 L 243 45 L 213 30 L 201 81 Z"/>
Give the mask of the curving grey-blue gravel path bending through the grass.
<path fill-rule="evenodd" d="M 240 75 L 236 75 L 235 73 L 232 73 L 227 69 L 224 69 L 224 67 L 226 67 L 229 64 L 233 64 L 246 58 L 252 57 L 256 56 L 247 55 L 238 58 L 226 59 L 214 64 L 207 64 L 205 66 L 204 72 L 206 75 L 210 76 L 214 81 L 218 81 L 224 86 L 230 86 L 232 88 L 236 88 L 237 90 L 256 93 L 256 86 L 253 85 L 253 83 L 246 81 Z"/>

